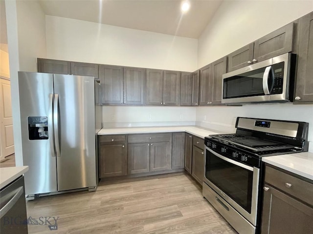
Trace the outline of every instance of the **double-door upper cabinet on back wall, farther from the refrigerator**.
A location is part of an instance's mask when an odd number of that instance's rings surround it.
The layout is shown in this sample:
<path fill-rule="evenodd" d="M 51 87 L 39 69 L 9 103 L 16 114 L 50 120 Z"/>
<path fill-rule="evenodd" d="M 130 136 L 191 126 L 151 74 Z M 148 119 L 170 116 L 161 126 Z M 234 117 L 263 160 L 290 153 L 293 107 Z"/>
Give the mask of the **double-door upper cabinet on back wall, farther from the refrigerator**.
<path fill-rule="evenodd" d="M 180 72 L 146 69 L 146 104 L 178 106 Z"/>

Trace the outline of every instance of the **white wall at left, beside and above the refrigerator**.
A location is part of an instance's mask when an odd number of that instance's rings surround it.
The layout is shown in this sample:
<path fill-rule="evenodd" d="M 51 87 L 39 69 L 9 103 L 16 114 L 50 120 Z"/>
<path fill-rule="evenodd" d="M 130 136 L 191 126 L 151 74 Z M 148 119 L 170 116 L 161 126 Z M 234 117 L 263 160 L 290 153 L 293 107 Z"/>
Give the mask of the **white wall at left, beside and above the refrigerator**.
<path fill-rule="evenodd" d="M 18 71 L 36 72 L 37 57 L 45 57 L 45 14 L 38 1 L 6 0 L 13 130 L 16 165 L 22 166 L 22 136 Z"/>

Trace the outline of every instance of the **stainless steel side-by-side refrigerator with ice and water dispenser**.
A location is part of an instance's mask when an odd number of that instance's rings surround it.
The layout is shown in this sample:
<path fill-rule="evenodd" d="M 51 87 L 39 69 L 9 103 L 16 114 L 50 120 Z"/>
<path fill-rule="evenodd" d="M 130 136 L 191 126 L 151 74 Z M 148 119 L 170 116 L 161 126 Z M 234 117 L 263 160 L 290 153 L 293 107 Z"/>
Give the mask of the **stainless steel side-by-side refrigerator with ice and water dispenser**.
<path fill-rule="evenodd" d="M 19 72 L 25 194 L 97 187 L 100 88 L 93 77 Z"/>

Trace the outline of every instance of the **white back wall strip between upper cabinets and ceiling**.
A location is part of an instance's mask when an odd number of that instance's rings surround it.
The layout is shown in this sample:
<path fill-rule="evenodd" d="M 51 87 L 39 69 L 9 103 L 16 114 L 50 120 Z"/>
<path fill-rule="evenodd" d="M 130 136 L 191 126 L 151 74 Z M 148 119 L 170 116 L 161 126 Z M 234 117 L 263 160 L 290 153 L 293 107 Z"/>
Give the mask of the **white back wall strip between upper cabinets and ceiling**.
<path fill-rule="evenodd" d="M 46 16 L 47 58 L 195 71 L 198 40 Z"/>

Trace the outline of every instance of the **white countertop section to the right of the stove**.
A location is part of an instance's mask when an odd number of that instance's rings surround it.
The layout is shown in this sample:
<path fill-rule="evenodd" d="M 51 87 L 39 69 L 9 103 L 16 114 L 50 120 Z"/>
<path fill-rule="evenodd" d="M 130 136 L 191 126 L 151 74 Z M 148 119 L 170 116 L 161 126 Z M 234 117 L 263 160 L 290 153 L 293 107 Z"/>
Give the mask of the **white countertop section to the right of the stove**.
<path fill-rule="evenodd" d="M 313 180 L 313 153 L 268 156 L 263 157 L 262 161 Z"/>

